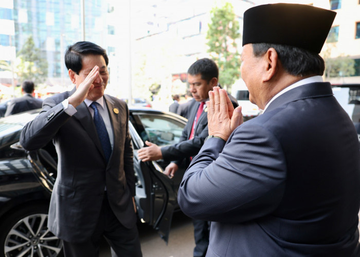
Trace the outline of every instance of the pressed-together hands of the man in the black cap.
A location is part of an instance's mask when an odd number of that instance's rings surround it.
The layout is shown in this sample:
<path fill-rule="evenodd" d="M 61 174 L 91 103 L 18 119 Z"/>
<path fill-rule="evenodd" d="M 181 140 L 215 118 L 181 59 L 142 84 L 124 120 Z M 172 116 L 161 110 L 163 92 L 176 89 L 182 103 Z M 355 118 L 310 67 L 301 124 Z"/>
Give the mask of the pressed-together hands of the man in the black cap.
<path fill-rule="evenodd" d="M 209 135 L 227 141 L 235 128 L 243 123 L 241 106 L 234 109 L 226 90 L 218 86 L 209 91 L 209 101 L 206 102 L 206 106 Z"/>

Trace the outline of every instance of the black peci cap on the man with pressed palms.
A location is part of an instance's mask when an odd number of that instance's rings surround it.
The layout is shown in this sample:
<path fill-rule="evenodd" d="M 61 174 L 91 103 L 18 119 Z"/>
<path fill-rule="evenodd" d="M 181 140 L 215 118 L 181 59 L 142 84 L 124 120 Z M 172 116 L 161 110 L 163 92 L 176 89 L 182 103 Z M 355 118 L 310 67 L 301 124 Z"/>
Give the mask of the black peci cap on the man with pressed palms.
<path fill-rule="evenodd" d="M 273 43 L 319 53 L 336 12 L 299 4 L 270 4 L 244 12 L 243 46 Z"/>

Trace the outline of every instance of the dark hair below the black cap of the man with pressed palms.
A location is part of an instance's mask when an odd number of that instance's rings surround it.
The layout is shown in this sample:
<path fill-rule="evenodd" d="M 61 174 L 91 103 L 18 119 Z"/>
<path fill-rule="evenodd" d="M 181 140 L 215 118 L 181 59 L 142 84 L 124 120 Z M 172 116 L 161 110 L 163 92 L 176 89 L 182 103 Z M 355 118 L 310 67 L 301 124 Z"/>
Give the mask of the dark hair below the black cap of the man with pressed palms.
<path fill-rule="evenodd" d="M 263 56 L 267 49 L 274 48 L 278 53 L 279 60 L 284 69 L 293 76 L 322 76 L 325 70 L 325 62 L 315 52 L 310 52 L 302 48 L 269 44 L 257 43 L 253 44 L 253 53 L 255 57 Z"/>

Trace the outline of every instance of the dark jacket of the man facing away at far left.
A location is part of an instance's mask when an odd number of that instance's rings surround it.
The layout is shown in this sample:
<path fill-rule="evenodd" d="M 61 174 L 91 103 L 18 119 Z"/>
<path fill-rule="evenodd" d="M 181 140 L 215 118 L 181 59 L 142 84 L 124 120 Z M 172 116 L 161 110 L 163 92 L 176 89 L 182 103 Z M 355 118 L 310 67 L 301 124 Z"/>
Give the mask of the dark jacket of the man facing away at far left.
<path fill-rule="evenodd" d="M 25 94 L 22 97 L 14 98 L 10 101 L 8 108 L 6 109 L 5 117 L 22 113 L 25 111 L 41 108 L 43 101 L 38 98 L 33 98 L 31 94 Z"/>

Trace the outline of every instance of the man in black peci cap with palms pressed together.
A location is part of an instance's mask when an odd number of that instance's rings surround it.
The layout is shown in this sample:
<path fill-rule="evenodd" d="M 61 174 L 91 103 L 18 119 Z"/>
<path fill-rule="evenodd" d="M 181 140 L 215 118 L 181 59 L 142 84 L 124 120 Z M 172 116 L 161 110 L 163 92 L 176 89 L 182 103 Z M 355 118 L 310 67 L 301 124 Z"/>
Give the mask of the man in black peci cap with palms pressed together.
<path fill-rule="evenodd" d="M 206 256 L 360 256 L 360 154 L 319 52 L 335 12 L 274 4 L 244 13 L 241 76 L 264 113 L 242 123 L 209 92 L 209 137 L 178 192 L 211 221 Z"/>

